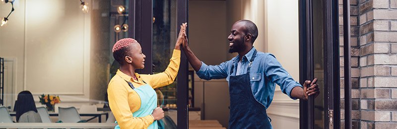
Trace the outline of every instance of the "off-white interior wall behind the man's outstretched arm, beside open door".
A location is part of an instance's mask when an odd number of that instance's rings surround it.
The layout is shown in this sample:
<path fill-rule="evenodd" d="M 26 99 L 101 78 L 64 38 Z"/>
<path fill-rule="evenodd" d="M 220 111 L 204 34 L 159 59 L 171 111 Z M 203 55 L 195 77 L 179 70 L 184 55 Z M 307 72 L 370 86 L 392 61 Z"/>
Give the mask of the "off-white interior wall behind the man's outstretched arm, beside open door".
<path fill-rule="evenodd" d="M 298 0 L 267 0 L 267 50 L 299 81 Z M 299 100 L 291 100 L 277 86 L 267 109 L 274 129 L 299 127 Z"/>

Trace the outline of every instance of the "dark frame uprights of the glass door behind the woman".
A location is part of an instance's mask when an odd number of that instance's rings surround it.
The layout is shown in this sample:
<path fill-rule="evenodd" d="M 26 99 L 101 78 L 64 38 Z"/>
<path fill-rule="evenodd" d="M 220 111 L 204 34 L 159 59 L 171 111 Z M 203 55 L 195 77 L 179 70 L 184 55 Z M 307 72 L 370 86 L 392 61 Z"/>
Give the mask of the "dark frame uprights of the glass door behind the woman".
<path fill-rule="evenodd" d="M 177 27 L 180 24 L 188 22 L 189 0 L 177 0 Z M 141 74 L 152 74 L 152 17 L 153 3 L 152 0 L 129 0 L 129 18 L 128 24 L 130 29 L 128 37 L 134 38 L 142 47 L 146 55 L 145 68 L 137 72 Z M 179 32 L 179 31 L 178 31 Z M 186 30 L 188 33 L 188 29 Z M 188 83 L 189 83 L 189 65 L 188 60 L 181 52 L 181 64 L 177 77 L 177 125 L 178 129 L 188 129 Z"/>

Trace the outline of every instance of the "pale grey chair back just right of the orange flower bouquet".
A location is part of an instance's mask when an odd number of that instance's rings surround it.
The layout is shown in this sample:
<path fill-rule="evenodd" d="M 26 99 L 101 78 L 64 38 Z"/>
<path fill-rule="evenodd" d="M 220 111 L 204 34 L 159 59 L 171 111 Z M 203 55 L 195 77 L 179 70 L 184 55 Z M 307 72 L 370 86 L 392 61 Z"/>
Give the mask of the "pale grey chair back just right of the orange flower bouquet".
<path fill-rule="evenodd" d="M 80 115 L 78 114 L 76 108 L 68 107 L 59 109 L 59 121 L 63 123 L 85 123 L 86 120 L 81 120 Z"/>

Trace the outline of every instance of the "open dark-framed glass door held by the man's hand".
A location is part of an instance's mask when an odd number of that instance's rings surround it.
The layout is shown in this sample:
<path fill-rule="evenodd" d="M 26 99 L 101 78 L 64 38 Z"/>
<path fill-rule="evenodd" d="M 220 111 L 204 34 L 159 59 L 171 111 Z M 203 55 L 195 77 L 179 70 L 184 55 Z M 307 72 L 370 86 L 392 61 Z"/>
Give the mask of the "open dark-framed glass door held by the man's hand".
<path fill-rule="evenodd" d="M 317 78 L 320 95 L 300 101 L 300 129 L 339 129 L 338 1 L 300 0 L 300 82 Z"/>

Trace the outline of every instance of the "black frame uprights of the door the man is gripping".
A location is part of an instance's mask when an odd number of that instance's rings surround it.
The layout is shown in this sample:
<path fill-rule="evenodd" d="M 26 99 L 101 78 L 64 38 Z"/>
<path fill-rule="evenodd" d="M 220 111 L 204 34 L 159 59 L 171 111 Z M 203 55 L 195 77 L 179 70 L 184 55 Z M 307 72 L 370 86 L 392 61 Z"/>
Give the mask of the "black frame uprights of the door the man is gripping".
<path fill-rule="evenodd" d="M 299 0 L 299 82 L 313 80 L 313 0 Z M 338 0 L 323 0 L 324 127 L 340 129 Z M 300 100 L 300 129 L 314 129 L 314 98 Z M 332 116 L 330 116 L 333 114 Z M 330 119 L 332 118 L 332 119 Z"/>

